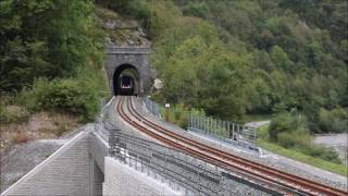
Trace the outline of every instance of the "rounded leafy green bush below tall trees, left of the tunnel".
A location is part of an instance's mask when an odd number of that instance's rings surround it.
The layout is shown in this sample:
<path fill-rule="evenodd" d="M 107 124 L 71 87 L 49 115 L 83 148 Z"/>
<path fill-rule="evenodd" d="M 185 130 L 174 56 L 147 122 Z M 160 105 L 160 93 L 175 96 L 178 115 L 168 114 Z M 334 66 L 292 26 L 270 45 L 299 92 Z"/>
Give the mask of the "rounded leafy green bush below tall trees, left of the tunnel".
<path fill-rule="evenodd" d="M 97 89 L 87 83 L 73 78 L 35 81 L 33 89 L 22 93 L 21 102 L 30 110 L 64 110 L 82 117 L 82 121 L 92 120 L 98 109 Z"/>

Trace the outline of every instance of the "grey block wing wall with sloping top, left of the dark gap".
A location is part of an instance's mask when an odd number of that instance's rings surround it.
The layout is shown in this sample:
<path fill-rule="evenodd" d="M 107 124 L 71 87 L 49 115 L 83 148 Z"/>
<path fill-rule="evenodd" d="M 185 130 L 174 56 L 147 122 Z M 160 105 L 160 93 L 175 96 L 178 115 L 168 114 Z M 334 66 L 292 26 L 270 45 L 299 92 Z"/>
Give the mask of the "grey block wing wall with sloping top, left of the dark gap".
<path fill-rule="evenodd" d="M 89 195 L 89 132 L 82 132 L 1 195 Z"/>

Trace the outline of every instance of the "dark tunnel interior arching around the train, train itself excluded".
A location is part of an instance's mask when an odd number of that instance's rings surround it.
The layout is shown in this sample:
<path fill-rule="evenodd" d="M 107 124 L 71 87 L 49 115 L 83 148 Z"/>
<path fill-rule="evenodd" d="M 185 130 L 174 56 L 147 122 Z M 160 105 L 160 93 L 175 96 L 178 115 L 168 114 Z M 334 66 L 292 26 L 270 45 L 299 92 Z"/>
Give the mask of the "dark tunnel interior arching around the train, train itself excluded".
<path fill-rule="evenodd" d="M 130 76 L 134 81 L 134 95 L 137 96 L 139 94 L 139 82 L 140 82 L 140 75 L 139 71 L 136 66 L 124 63 L 120 64 L 115 68 L 114 74 L 113 74 L 113 95 L 122 95 L 121 94 L 121 77 L 122 76 Z"/>

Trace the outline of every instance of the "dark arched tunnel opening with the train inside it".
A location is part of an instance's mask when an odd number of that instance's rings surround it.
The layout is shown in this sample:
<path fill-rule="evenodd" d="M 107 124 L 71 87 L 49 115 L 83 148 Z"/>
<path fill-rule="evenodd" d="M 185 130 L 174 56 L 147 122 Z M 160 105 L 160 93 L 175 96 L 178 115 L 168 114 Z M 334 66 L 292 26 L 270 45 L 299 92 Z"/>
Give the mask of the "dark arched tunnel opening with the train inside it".
<path fill-rule="evenodd" d="M 139 94 L 139 72 L 132 64 L 121 64 L 113 74 L 115 96 L 137 96 Z"/>

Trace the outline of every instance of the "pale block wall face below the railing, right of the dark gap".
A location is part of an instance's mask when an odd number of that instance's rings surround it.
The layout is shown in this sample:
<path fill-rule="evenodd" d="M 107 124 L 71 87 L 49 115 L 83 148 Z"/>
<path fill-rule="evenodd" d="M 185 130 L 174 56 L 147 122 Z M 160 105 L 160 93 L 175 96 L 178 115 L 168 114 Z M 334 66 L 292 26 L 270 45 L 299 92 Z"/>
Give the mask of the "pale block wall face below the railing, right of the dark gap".
<path fill-rule="evenodd" d="M 104 196 L 115 195 L 181 195 L 162 184 L 111 157 L 104 160 Z"/>

